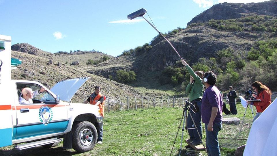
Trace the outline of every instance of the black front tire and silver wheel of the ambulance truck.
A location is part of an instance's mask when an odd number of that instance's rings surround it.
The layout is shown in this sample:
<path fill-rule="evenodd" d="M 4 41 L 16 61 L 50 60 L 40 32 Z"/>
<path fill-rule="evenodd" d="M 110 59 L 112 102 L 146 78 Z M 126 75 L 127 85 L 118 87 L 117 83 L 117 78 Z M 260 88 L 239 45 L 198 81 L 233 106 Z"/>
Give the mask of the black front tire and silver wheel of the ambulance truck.
<path fill-rule="evenodd" d="M 82 121 L 74 125 L 72 134 L 72 147 L 80 153 L 92 150 L 97 142 L 96 127 L 89 121 Z"/>

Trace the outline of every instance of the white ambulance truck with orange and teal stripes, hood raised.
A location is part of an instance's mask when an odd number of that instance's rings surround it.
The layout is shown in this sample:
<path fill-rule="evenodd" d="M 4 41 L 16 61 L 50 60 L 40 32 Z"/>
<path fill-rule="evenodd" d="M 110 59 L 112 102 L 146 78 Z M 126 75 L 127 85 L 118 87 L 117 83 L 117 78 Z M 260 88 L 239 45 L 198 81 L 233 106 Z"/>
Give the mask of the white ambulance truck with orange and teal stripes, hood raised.
<path fill-rule="evenodd" d="M 72 96 L 88 77 L 65 80 L 51 90 L 36 81 L 11 80 L 11 37 L 0 35 L 0 147 L 51 147 L 62 141 L 63 148 L 78 152 L 92 150 L 103 117 L 98 106 L 71 103 Z M 33 104 L 20 104 L 25 87 L 34 92 Z M 68 102 L 65 102 L 68 101 Z"/>

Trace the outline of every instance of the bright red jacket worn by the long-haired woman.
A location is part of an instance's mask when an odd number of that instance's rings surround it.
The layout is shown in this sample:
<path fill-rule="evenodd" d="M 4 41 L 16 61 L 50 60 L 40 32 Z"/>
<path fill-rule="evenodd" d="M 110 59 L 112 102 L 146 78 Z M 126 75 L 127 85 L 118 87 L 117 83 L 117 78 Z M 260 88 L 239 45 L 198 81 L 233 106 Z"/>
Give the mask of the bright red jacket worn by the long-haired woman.
<path fill-rule="evenodd" d="M 260 99 L 261 101 L 255 101 L 254 106 L 257 108 L 257 112 L 263 112 L 271 103 L 271 95 L 265 90 L 261 91 L 256 99 Z"/>

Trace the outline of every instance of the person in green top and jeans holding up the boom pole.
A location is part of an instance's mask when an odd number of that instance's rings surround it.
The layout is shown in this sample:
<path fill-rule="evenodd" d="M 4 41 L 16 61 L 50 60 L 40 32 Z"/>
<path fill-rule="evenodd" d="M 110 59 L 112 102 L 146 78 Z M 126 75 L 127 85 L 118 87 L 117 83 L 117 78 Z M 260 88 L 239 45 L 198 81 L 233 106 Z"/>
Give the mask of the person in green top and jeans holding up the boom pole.
<path fill-rule="evenodd" d="M 186 92 L 190 93 L 190 103 L 192 103 L 195 107 L 190 107 L 194 110 L 195 114 L 190 110 L 190 114 L 192 115 L 192 118 L 190 115 L 188 115 L 187 118 L 187 126 L 188 126 L 188 134 L 190 135 L 190 139 L 188 140 L 190 144 L 197 145 L 202 144 L 202 125 L 201 125 L 201 101 L 203 97 L 203 91 L 204 91 L 204 85 L 202 83 L 203 80 L 203 73 L 202 71 L 193 71 L 192 68 L 186 63 L 186 61 L 182 60 L 182 64 L 186 66 L 186 69 L 188 70 L 188 73 L 190 74 L 190 83 L 186 87 Z M 195 125 L 192 122 L 192 119 L 195 123 Z M 196 128 L 200 134 L 197 133 L 196 129 L 190 129 L 190 128 Z"/>

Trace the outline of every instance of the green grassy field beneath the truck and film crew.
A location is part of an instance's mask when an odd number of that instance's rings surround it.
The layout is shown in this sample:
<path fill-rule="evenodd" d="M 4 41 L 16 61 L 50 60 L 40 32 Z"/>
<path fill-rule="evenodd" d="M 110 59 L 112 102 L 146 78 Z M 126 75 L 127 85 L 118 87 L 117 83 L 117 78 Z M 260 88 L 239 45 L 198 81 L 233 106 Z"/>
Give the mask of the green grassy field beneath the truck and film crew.
<path fill-rule="evenodd" d="M 238 103 L 237 110 L 238 115 L 224 115 L 224 118 L 238 117 L 242 120 L 245 109 Z M 97 144 L 92 151 L 76 153 L 73 149 L 63 150 L 62 144 L 50 149 L 40 146 L 23 151 L 15 151 L 12 146 L 8 146 L 0 148 L 0 155 L 170 155 L 182 114 L 183 109 L 179 107 L 110 112 L 106 113 L 104 118 L 103 144 Z M 236 148 L 245 144 L 246 140 L 230 138 L 247 139 L 252 118 L 251 110 L 247 109 L 243 133 L 239 132 L 241 125 L 223 125 L 219 138 L 229 139 L 219 139 L 222 155 L 234 155 Z M 174 156 L 179 155 L 181 132 L 180 129 L 173 148 Z M 187 138 L 188 133 L 184 131 L 184 139 Z M 183 141 L 182 155 L 185 154 L 185 146 Z M 207 155 L 203 151 L 202 154 Z"/>

